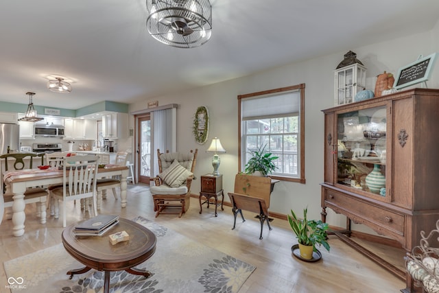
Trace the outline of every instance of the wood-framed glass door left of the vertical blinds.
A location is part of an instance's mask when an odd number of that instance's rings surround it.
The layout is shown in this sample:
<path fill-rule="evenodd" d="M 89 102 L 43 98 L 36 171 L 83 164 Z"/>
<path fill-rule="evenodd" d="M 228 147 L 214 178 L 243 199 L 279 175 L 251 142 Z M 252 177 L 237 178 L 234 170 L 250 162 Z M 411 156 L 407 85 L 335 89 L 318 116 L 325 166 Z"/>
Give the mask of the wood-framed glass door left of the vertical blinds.
<path fill-rule="evenodd" d="M 150 115 L 137 119 L 137 178 L 139 182 L 150 184 L 151 177 L 151 119 Z"/>

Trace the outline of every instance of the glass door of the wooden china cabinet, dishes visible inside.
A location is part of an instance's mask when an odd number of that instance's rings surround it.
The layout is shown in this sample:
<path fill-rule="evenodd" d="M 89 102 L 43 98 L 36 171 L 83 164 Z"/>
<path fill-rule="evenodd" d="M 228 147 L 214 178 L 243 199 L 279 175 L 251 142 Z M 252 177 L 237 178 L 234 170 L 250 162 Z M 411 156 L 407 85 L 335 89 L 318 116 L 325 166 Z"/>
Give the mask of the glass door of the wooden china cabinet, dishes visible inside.
<path fill-rule="evenodd" d="M 337 115 L 337 183 L 385 197 L 385 106 Z"/>

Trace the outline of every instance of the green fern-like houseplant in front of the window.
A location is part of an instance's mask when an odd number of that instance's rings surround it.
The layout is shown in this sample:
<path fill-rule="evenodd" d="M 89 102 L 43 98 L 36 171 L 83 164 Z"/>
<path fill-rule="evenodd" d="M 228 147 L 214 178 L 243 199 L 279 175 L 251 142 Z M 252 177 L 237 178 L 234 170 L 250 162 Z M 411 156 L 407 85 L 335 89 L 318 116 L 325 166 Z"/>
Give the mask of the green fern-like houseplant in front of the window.
<path fill-rule="evenodd" d="M 245 174 L 253 174 L 255 171 L 259 171 L 262 176 L 267 176 L 277 168 L 273 161 L 279 157 L 274 156 L 271 152 L 265 152 L 266 146 L 259 147 L 257 150 L 249 150 L 252 157 L 245 166 Z"/>

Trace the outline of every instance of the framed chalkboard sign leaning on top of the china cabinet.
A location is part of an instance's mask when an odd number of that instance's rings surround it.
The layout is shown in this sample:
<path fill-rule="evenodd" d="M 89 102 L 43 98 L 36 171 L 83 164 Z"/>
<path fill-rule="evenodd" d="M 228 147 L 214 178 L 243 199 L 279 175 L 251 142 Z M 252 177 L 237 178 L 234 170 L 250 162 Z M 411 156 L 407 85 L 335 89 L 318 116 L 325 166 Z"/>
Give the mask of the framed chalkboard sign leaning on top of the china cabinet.
<path fill-rule="evenodd" d="M 401 67 L 398 71 L 398 75 L 396 75 L 393 87 L 395 89 L 402 89 L 406 86 L 412 86 L 413 84 L 429 80 L 436 55 L 437 53 L 434 53 L 424 58 L 421 55 L 415 62 Z"/>

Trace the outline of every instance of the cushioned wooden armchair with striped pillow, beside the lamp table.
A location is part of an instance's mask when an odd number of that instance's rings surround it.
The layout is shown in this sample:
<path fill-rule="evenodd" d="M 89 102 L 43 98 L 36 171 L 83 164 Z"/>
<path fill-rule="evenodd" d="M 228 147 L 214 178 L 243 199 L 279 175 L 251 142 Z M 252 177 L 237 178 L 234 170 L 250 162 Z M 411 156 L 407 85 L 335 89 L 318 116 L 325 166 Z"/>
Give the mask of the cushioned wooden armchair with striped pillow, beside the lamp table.
<path fill-rule="evenodd" d="M 161 213 L 178 213 L 180 218 L 189 209 L 197 154 L 198 149 L 187 154 L 157 150 L 160 174 L 154 178 L 154 186 L 150 187 L 156 217 Z"/>

